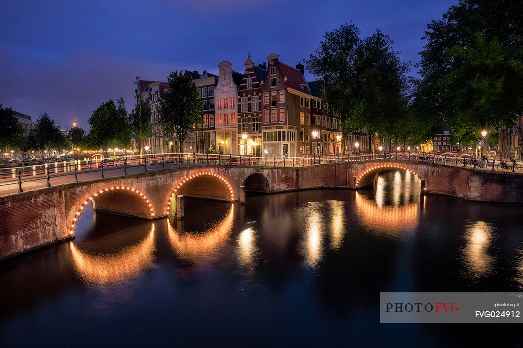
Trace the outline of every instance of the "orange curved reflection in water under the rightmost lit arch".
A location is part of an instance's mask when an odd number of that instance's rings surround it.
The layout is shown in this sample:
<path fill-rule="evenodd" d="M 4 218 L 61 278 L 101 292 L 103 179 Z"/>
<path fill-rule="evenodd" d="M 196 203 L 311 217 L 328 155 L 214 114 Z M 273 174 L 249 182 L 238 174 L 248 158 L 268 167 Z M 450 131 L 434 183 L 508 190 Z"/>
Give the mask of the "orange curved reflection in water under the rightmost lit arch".
<path fill-rule="evenodd" d="M 412 229 L 418 220 L 419 206 L 378 206 L 356 191 L 356 209 L 363 224 L 371 229 L 381 229 L 388 234 Z"/>

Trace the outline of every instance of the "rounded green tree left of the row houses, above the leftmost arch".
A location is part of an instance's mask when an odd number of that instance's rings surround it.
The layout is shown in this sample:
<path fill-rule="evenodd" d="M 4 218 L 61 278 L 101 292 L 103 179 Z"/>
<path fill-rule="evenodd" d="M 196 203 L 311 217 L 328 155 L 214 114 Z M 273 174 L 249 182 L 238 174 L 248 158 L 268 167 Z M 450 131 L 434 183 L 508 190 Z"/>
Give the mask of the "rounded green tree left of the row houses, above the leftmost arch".
<path fill-rule="evenodd" d="M 123 99 L 101 103 L 87 122 L 90 125 L 90 145 L 97 148 L 127 148 L 131 142 L 129 117 Z"/>

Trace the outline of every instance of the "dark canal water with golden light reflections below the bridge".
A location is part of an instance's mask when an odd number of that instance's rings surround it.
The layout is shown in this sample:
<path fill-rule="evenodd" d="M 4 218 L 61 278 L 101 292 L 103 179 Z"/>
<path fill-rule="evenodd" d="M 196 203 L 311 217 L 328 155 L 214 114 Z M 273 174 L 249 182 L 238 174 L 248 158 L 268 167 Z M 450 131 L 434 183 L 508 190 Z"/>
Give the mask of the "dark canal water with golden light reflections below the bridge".
<path fill-rule="evenodd" d="M 357 192 L 187 200 L 183 223 L 87 209 L 74 242 L 0 263 L 0 346 L 521 346 L 516 325 L 378 311 L 380 292 L 522 291 L 521 208 L 420 197 L 390 171 Z"/>

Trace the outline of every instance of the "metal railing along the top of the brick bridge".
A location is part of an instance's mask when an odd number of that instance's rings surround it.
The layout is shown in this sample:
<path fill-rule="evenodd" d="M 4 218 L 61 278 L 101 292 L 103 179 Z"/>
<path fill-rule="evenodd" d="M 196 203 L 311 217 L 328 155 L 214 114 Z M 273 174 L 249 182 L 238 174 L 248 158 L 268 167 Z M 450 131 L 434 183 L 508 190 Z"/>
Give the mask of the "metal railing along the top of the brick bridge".
<path fill-rule="evenodd" d="M 8 185 L 18 185 L 18 192 L 23 192 L 22 184 L 44 181 L 46 187 L 51 186 L 51 180 L 64 176 L 74 176 L 74 182 L 78 182 L 78 176 L 86 176 L 88 173 L 99 173 L 99 176 L 90 175 L 86 179 L 96 177 L 105 178 L 107 172 L 123 170 L 122 175 L 146 172 L 148 170 L 165 170 L 166 165 L 191 166 L 191 165 L 228 165 L 228 166 L 261 166 L 261 167 L 304 167 L 322 165 L 329 163 L 369 161 L 369 160 L 392 160 L 392 161 L 417 161 L 429 162 L 439 165 L 471 167 L 468 155 L 434 154 L 417 152 L 375 152 L 355 153 L 350 155 L 312 155 L 310 157 L 268 157 L 236 154 L 211 154 L 211 153 L 158 153 L 117 156 L 109 159 L 85 159 L 55 161 L 39 165 L 28 165 L 0 169 L 0 190 Z M 509 162 L 510 163 L 510 162 Z M 490 159 L 485 161 L 483 170 L 499 169 L 499 161 Z M 520 164 L 518 164 L 520 165 Z M 472 170 L 481 169 L 479 166 L 471 167 Z M 515 167 L 512 168 L 514 171 Z M 507 171 L 507 170 L 503 170 Z"/>

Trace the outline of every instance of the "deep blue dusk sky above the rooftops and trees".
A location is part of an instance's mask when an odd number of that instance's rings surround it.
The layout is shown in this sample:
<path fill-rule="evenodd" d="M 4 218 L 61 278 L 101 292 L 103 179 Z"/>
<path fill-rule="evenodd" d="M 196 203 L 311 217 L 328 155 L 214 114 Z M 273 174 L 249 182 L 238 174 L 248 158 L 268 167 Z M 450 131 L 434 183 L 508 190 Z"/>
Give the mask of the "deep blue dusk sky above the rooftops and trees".
<path fill-rule="evenodd" d="M 427 23 L 456 3 L 3 0 L 0 104 L 34 121 L 47 112 L 67 129 L 76 118 L 88 129 L 104 101 L 123 97 L 132 109 L 136 76 L 165 81 L 177 69 L 217 73 L 221 61 L 243 71 L 248 52 L 255 63 L 277 53 L 294 65 L 326 31 L 349 21 L 363 36 L 376 29 L 389 34 L 402 59 L 416 63 Z"/>

